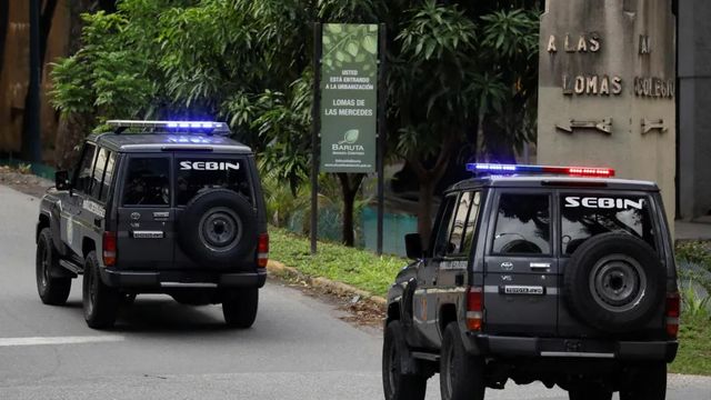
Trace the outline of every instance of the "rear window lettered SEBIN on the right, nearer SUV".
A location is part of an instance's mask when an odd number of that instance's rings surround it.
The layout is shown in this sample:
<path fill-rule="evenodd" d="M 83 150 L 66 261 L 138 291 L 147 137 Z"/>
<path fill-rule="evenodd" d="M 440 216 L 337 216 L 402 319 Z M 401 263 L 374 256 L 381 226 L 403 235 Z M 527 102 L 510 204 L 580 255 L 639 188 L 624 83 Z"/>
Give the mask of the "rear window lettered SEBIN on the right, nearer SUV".
<path fill-rule="evenodd" d="M 625 233 L 657 248 L 654 227 L 645 196 L 562 194 L 561 249 L 572 254 L 595 234 Z"/>

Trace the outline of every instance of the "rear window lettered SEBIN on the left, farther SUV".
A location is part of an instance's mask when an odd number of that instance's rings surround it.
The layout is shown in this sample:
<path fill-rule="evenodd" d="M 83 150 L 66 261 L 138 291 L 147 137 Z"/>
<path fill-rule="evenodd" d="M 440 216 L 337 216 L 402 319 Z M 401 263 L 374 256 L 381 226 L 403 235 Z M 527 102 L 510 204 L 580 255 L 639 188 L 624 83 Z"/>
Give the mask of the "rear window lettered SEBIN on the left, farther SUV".
<path fill-rule="evenodd" d="M 184 158 L 176 160 L 176 201 L 186 206 L 204 190 L 229 189 L 251 201 L 249 178 L 244 159 Z"/>

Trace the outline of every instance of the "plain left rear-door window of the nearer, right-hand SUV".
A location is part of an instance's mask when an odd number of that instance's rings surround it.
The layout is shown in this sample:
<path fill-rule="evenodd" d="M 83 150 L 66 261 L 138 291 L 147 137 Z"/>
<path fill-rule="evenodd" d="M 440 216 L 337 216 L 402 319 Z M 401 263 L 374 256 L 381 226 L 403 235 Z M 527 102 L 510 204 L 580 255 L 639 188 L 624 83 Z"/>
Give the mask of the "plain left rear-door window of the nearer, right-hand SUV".
<path fill-rule="evenodd" d="M 549 196 L 501 194 L 492 253 L 550 254 L 550 238 Z"/>

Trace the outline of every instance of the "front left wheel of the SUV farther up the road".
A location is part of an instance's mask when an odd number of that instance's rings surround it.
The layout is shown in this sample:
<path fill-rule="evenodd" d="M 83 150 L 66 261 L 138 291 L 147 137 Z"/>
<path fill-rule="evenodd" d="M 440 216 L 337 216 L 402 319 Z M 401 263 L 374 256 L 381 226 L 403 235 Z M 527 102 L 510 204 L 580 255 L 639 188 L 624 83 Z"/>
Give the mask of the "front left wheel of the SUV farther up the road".
<path fill-rule="evenodd" d="M 42 302 L 50 306 L 64 304 L 71 291 L 71 278 L 52 278 L 52 270 L 62 267 L 59 266 L 57 250 L 49 228 L 40 231 L 34 262 L 37 292 Z"/>

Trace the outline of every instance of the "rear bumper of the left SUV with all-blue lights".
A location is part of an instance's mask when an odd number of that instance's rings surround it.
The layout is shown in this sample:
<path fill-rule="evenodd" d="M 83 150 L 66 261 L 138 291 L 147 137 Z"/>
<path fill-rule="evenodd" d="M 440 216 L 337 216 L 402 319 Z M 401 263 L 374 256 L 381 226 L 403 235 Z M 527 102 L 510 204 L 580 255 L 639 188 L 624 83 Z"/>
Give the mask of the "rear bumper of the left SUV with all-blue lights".
<path fill-rule="evenodd" d="M 146 291 L 174 289 L 261 288 L 267 281 L 267 270 L 256 272 L 206 271 L 122 271 L 101 268 L 101 280 L 112 288 Z"/>

